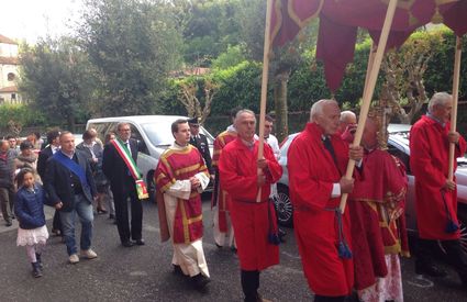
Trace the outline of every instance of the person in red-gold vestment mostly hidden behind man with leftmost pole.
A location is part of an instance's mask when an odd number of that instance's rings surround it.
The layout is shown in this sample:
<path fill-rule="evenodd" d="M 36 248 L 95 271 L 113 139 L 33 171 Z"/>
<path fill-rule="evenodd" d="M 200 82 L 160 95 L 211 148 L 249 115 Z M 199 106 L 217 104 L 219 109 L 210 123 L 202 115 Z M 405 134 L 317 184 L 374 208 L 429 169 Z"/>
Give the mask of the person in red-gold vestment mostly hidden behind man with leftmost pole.
<path fill-rule="evenodd" d="M 235 249 L 234 243 L 234 231 L 232 228 L 231 216 L 229 213 L 230 195 L 227 191 L 220 183 L 219 177 L 219 158 L 221 157 L 223 148 L 231 142 L 236 139 L 236 130 L 233 125 L 235 115 L 238 112 L 238 108 L 234 108 L 231 111 L 232 125 L 230 125 L 224 132 L 218 135 L 214 139 L 214 155 L 212 156 L 212 167 L 215 171 L 214 178 L 214 192 L 212 193 L 212 209 L 213 209 L 213 235 L 215 245 L 221 248 L 225 245 L 231 246 Z"/>

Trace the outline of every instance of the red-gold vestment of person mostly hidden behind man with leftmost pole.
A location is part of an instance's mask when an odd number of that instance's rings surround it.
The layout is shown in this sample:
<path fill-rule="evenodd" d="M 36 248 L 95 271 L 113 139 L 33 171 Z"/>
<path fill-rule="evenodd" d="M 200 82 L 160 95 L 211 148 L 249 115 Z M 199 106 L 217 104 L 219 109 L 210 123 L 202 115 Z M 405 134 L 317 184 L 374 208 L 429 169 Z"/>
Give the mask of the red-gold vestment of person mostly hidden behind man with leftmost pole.
<path fill-rule="evenodd" d="M 212 156 L 212 167 L 218 170 L 219 166 L 219 158 L 221 157 L 222 149 L 225 147 L 226 144 L 229 144 L 232 141 L 235 141 L 236 138 L 236 132 L 233 131 L 224 131 L 221 134 L 218 135 L 214 139 L 214 155 Z M 219 174 L 218 178 L 214 181 L 219 181 Z M 214 183 L 214 190 L 218 190 L 215 193 L 212 194 L 214 198 L 218 195 L 218 200 L 212 200 L 211 204 L 218 205 L 218 212 L 219 212 L 219 231 L 222 233 L 227 232 L 227 219 L 226 219 L 226 212 L 229 212 L 229 203 L 230 203 L 230 197 L 227 191 L 225 191 L 222 188 L 222 183 Z"/>

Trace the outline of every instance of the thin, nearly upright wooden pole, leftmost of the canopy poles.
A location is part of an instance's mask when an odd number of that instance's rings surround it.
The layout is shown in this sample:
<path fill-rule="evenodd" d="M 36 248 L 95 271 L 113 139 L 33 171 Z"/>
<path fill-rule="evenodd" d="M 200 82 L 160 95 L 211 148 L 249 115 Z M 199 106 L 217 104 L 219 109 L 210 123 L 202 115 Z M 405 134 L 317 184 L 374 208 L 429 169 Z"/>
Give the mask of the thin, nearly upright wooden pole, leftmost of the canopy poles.
<path fill-rule="evenodd" d="M 265 146 L 265 115 L 267 101 L 267 83 L 269 75 L 269 51 L 270 51 L 270 14 L 273 11 L 273 0 L 267 0 L 266 8 L 266 26 L 265 26 L 265 44 L 263 49 L 263 77 L 262 77 L 262 101 L 259 105 L 259 145 L 258 159 L 263 158 Z M 258 174 L 263 172 L 258 169 Z M 262 201 L 262 188 L 258 190 L 256 202 Z"/>

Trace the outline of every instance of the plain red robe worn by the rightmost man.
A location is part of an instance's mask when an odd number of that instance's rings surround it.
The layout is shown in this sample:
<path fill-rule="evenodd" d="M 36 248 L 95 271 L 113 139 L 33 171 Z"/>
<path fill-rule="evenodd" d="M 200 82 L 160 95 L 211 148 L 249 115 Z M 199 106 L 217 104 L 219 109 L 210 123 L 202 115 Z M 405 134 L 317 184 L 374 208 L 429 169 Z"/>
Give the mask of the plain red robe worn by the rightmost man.
<path fill-rule="evenodd" d="M 415 177 L 415 211 L 419 235 L 424 239 L 451 241 L 459 238 L 456 233 L 445 232 L 448 223 L 443 194 L 452 220 L 457 221 L 457 190 L 443 189 L 448 172 L 449 124 L 443 127 L 438 122 L 424 115 L 410 131 L 410 168 Z M 464 156 L 466 141 L 460 137 L 455 148 L 456 158 Z"/>

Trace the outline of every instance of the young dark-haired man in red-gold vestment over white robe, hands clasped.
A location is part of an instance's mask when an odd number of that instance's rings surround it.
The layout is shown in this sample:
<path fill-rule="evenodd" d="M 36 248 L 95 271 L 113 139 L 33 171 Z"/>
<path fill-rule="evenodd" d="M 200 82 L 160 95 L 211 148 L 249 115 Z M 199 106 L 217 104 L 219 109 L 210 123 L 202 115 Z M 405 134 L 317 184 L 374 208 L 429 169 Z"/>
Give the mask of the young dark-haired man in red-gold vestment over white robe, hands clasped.
<path fill-rule="evenodd" d="M 200 193 L 208 187 L 209 172 L 198 148 L 189 144 L 190 127 L 186 120 L 171 125 L 175 143 L 163 153 L 155 172 L 158 193 L 160 230 L 169 231 L 174 246 L 174 271 L 191 277 L 193 286 L 203 290 L 209 279 L 202 248 L 202 205 Z M 165 211 L 164 211 L 165 210 Z"/>

